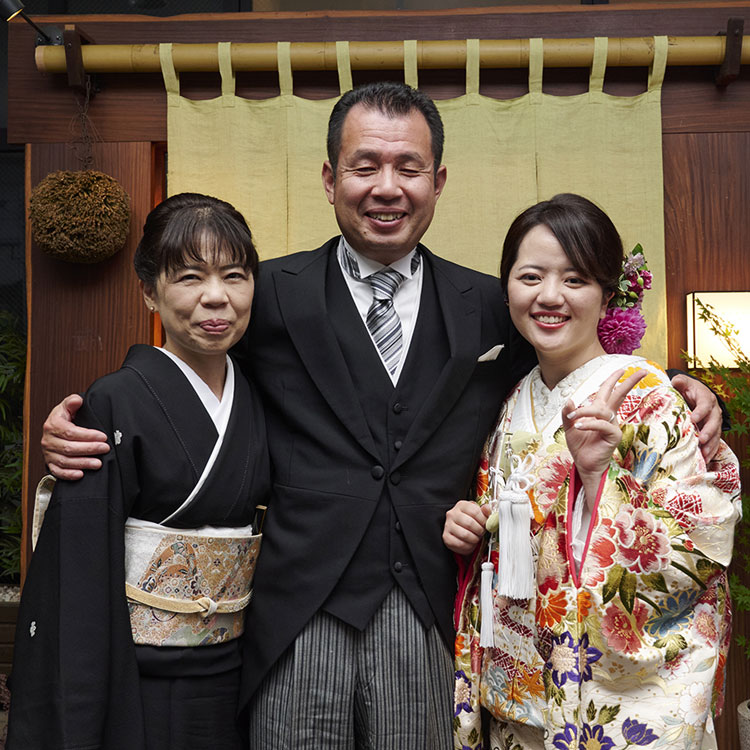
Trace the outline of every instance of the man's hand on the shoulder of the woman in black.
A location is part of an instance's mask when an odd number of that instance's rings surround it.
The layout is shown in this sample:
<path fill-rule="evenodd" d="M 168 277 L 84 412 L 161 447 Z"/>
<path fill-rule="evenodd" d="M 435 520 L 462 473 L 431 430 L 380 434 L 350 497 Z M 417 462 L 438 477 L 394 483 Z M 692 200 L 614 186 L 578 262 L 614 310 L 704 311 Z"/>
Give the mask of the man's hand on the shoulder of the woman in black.
<path fill-rule="evenodd" d="M 67 396 L 49 413 L 42 428 L 44 462 L 58 479 L 80 479 L 84 469 L 101 468 L 102 462 L 92 456 L 109 452 L 103 432 L 73 422 L 82 404 L 78 394 Z"/>

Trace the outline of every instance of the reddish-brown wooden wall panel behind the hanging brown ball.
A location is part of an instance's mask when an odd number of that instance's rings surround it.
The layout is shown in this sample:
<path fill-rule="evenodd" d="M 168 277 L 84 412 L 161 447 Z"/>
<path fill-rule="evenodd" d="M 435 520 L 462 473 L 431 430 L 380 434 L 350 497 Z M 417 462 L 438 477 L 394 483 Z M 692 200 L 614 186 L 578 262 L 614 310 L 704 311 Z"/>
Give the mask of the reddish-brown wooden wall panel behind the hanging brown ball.
<path fill-rule="evenodd" d="M 49 172 L 80 168 L 66 144 L 34 145 L 29 152 L 32 188 Z M 35 243 L 27 247 L 31 290 L 27 390 L 31 397 L 25 474 L 29 477 L 29 497 L 44 474 L 39 440 L 50 408 L 69 393 L 83 392 L 93 380 L 117 369 L 131 344 L 149 342 L 150 316 L 140 295 L 132 258 L 152 207 L 151 144 L 97 144 L 94 168 L 119 180 L 130 195 L 126 246 L 114 257 L 93 265 L 56 260 Z M 28 554 L 28 547 L 24 551 Z"/>

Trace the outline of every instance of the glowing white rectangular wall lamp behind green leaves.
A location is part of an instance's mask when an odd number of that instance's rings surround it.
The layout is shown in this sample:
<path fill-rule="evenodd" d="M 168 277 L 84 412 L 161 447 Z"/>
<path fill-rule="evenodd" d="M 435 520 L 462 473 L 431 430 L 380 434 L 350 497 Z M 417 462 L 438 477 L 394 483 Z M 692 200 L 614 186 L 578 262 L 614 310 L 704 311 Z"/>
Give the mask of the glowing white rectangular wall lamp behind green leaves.
<path fill-rule="evenodd" d="M 735 356 L 724 340 L 701 320 L 697 300 L 710 305 L 725 324 L 734 327 L 740 349 L 750 355 L 750 292 L 691 292 L 687 295 L 689 366 L 695 366 L 696 359 L 707 365 L 713 357 L 723 367 L 736 367 Z"/>

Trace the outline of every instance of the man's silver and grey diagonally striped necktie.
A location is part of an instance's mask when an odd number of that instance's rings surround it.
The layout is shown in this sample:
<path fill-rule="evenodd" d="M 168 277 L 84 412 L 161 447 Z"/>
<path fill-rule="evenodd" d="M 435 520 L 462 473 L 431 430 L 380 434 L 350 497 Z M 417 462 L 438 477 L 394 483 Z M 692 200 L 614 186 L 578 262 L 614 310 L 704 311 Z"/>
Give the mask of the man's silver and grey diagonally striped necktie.
<path fill-rule="evenodd" d="M 401 320 L 393 307 L 393 295 L 406 277 L 399 271 L 386 266 L 363 279 L 357 259 L 343 242 L 340 247 L 342 250 L 339 257 L 346 272 L 357 281 L 367 282 L 372 287 L 372 304 L 367 311 L 365 323 L 375 346 L 378 347 L 386 369 L 393 375 L 401 361 L 403 348 Z M 420 254 L 416 252 L 411 259 L 412 274 L 417 272 L 419 262 Z"/>

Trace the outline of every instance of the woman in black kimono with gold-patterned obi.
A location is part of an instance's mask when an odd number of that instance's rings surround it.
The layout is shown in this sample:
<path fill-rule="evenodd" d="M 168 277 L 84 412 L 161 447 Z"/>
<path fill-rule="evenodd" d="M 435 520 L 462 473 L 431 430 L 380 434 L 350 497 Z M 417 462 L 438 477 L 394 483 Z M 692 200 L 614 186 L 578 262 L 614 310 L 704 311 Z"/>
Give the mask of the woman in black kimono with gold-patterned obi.
<path fill-rule="evenodd" d="M 186 193 L 149 214 L 135 268 L 166 341 L 133 346 L 84 397 L 81 424 L 111 450 L 49 502 L 18 616 L 10 750 L 243 746 L 240 636 L 269 464 L 261 404 L 227 350 L 258 256 L 240 213 Z"/>

